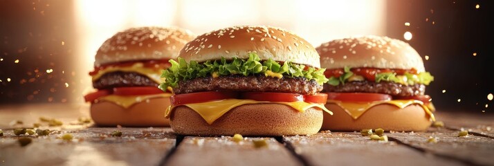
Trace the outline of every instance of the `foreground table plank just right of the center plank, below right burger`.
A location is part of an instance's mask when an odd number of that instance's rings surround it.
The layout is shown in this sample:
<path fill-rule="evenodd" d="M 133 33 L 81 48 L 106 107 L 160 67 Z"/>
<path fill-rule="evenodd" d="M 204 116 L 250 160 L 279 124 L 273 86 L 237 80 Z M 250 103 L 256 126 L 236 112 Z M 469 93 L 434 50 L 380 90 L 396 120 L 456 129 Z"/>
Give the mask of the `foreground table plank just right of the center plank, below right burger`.
<path fill-rule="evenodd" d="M 285 137 L 312 165 L 462 165 L 422 154 L 396 142 L 369 140 L 360 133 L 323 132 Z"/>

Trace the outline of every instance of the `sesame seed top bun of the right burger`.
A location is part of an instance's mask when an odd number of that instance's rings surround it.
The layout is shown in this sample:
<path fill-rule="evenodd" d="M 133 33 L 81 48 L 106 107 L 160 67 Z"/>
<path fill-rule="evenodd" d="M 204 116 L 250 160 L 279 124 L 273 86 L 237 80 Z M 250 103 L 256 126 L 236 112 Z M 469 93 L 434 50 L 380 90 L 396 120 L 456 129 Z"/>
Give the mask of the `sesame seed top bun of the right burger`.
<path fill-rule="evenodd" d="M 323 68 L 415 68 L 426 71 L 422 57 L 410 44 L 373 35 L 335 39 L 318 48 Z"/>

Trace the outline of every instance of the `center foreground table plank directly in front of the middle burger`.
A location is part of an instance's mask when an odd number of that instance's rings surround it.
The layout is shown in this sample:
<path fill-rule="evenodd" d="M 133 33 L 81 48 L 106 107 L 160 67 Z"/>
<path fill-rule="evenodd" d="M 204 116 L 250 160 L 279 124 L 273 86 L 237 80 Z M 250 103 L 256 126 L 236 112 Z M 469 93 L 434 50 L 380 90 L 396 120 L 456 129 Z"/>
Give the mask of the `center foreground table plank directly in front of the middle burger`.
<path fill-rule="evenodd" d="M 265 139 L 267 147 L 256 148 L 253 140 Z M 273 138 L 186 137 L 167 165 L 301 165 Z"/>

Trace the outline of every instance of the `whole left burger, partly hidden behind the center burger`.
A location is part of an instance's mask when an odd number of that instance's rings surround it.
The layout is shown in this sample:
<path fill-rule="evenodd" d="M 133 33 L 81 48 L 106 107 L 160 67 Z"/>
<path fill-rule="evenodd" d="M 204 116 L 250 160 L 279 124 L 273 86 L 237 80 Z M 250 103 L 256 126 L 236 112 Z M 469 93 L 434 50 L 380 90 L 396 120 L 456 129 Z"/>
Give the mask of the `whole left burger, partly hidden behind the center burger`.
<path fill-rule="evenodd" d="M 102 126 L 167 126 L 170 91 L 161 91 L 161 71 L 194 38 L 181 28 L 140 27 L 116 33 L 100 46 L 91 71 L 95 92 L 91 118 Z"/>

